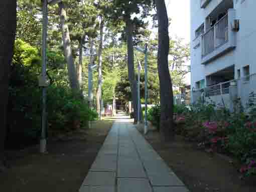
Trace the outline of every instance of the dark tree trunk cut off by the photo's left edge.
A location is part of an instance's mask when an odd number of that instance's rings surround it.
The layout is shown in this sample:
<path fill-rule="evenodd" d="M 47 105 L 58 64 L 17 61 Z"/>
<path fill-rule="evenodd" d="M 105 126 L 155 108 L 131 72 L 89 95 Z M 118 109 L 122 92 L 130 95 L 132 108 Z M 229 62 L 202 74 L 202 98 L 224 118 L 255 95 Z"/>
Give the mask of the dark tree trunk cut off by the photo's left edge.
<path fill-rule="evenodd" d="M 7 128 L 9 70 L 13 58 L 17 25 L 16 9 L 16 0 L 0 2 L 0 172 L 5 170 L 4 149 Z"/>

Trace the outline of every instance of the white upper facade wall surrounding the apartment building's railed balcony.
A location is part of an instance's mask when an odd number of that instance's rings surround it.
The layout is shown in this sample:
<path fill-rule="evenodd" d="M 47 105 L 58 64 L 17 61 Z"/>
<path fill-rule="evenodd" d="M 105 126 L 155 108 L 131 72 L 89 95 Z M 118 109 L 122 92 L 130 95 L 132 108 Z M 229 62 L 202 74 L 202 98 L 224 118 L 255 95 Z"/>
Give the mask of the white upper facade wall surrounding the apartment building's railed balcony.
<path fill-rule="evenodd" d="M 235 17 L 240 20 L 240 30 L 235 34 L 236 48 L 221 57 L 201 65 L 201 45 L 194 49 L 198 44 L 198 37 L 195 40 L 195 31 L 205 21 L 205 18 L 222 2 L 227 0 L 212 0 L 205 9 L 201 9 L 201 0 L 191 0 L 191 86 L 205 76 L 225 69 L 229 66 L 235 66 L 235 78 L 237 69 L 240 69 L 243 75 L 242 67 L 249 65 L 250 74 L 256 73 L 254 65 L 256 57 L 256 17 L 255 0 L 234 0 Z M 230 24 L 229 24 L 230 25 Z"/>

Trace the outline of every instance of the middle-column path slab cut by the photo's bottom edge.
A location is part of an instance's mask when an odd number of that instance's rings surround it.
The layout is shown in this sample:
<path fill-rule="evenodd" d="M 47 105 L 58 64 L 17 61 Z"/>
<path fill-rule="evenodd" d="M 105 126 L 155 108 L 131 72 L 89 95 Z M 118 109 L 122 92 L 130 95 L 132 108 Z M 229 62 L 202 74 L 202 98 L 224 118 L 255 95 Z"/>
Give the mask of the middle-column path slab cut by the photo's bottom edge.
<path fill-rule="evenodd" d="M 148 179 L 119 178 L 117 179 L 117 192 L 152 192 Z"/>

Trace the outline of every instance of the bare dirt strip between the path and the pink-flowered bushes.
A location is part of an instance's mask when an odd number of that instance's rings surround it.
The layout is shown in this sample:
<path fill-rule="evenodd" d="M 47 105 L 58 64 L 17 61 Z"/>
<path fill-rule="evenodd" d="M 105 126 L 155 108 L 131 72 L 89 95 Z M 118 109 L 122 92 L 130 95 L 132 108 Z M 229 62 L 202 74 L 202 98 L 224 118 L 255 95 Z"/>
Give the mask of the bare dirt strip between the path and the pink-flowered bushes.
<path fill-rule="evenodd" d="M 239 172 L 228 160 L 196 149 L 194 143 L 183 137 L 177 136 L 175 141 L 167 143 L 161 141 L 158 132 L 150 131 L 146 139 L 191 192 L 256 191 L 255 182 L 241 180 Z"/>

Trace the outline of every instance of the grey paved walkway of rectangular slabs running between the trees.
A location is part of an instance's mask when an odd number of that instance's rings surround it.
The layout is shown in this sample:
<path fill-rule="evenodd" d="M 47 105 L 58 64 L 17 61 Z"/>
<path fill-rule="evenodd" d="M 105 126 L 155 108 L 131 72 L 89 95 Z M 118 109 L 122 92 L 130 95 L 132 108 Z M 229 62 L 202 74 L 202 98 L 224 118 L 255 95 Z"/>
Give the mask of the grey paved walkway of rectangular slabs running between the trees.
<path fill-rule="evenodd" d="M 188 192 L 129 121 L 114 122 L 79 192 Z"/>

